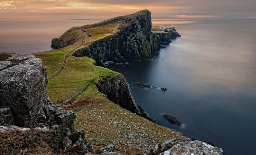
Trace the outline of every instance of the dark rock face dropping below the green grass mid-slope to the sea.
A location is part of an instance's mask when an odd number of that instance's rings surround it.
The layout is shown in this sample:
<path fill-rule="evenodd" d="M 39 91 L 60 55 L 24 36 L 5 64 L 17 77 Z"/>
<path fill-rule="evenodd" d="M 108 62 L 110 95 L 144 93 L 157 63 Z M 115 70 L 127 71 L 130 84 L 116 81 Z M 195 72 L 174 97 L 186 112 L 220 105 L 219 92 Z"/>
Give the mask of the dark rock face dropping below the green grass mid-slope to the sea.
<path fill-rule="evenodd" d="M 138 105 L 131 96 L 129 84 L 123 75 L 104 78 L 96 84 L 99 91 L 106 94 L 108 99 L 121 107 L 154 121 L 148 117 L 145 111 Z"/>

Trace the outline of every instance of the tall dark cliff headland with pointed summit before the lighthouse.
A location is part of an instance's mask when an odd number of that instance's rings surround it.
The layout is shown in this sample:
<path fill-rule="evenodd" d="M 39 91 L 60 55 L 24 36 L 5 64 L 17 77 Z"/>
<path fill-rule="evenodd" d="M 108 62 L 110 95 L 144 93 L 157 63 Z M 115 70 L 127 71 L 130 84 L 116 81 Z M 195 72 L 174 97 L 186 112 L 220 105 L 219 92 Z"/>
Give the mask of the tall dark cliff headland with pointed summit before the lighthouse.
<path fill-rule="evenodd" d="M 89 38 L 94 37 L 90 30 L 107 25 L 118 24 L 114 33 L 107 37 L 91 42 L 88 46 L 75 50 L 74 56 L 88 56 L 102 66 L 104 62 L 110 60 L 114 62 L 124 62 L 125 60 L 149 59 L 153 52 L 158 51 L 158 39 L 152 37 L 151 33 L 151 13 L 142 10 L 134 14 L 120 16 L 105 20 L 92 25 L 84 25 L 80 28 L 72 28 L 65 32 L 60 38 L 52 40 L 52 47 L 55 49 L 74 44 L 77 39 L 76 32 L 82 29 Z"/>

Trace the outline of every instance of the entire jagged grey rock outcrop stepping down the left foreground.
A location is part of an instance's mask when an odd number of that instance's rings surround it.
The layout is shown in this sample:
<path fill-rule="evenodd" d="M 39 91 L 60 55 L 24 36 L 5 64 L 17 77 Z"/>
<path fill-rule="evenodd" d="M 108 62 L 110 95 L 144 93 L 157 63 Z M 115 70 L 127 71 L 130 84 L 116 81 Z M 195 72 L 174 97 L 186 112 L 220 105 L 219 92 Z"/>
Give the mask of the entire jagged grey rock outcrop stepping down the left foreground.
<path fill-rule="evenodd" d="M 47 72 L 40 59 L 12 54 L 0 64 L 6 66 L 0 71 L 0 132 L 46 130 L 53 132 L 63 151 L 94 152 L 84 131 L 74 130 L 76 114 L 56 107 L 48 98 Z"/>

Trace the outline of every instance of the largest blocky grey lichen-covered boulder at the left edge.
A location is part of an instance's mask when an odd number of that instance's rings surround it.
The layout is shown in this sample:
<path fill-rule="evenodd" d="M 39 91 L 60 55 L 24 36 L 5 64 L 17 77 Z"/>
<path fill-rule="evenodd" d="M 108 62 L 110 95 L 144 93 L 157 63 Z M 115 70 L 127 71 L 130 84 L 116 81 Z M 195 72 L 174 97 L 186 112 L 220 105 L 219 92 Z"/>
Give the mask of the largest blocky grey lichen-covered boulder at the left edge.
<path fill-rule="evenodd" d="M 31 57 L 11 57 L 7 60 L 25 61 L 0 71 L 0 106 L 10 106 L 14 124 L 20 127 L 33 126 L 47 100 L 46 69 L 40 59 Z"/>

